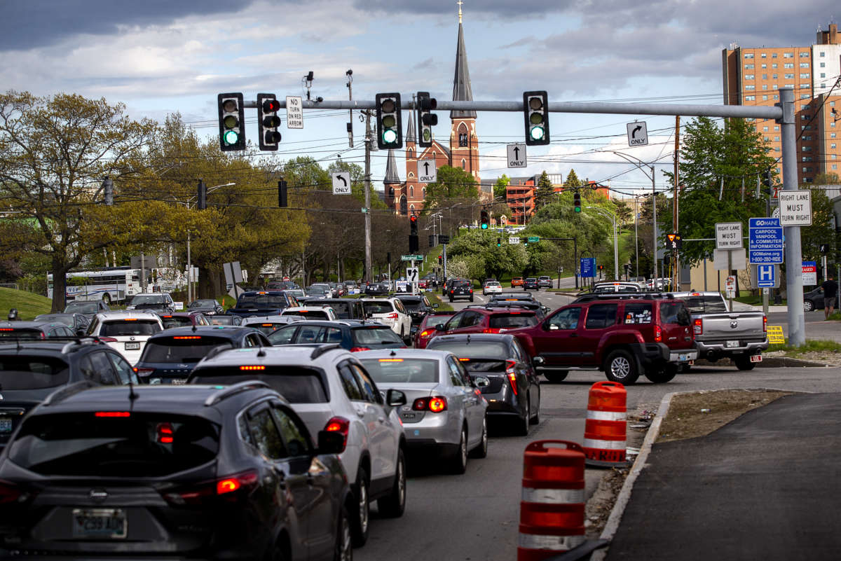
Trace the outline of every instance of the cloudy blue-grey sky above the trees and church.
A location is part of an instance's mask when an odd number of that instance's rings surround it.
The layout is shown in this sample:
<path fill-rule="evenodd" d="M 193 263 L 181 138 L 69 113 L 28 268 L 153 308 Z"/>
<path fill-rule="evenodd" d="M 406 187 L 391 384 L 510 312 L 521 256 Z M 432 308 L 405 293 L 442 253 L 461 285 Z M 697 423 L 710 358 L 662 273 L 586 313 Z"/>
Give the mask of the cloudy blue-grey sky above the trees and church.
<path fill-rule="evenodd" d="M 218 138 L 218 93 L 305 97 L 309 71 L 314 98 L 346 100 L 351 69 L 357 100 L 418 91 L 452 99 L 459 9 L 452 0 L 6 0 L 3 8 L 4 89 L 104 97 L 123 102 L 133 118 L 160 122 L 178 112 L 203 137 Z M 723 48 L 812 45 L 841 12 L 837 0 L 465 0 L 461 9 L 476 101 L 546 90 L 550 102 L 701 104 L 722 103 Z M 246 110 L 255 143 L 256 113 Z M 358 112 L 353 149 L 347 111 L 305 110 L 303 130 L 286 128 L 281 116 L 281 148 L 264 157 L 363 164 Z M 637 119 L 648 125 L 649 145 L 630 148 L 626 123 Z M 445 143 L 449 125 L 448 112 L 439 113 L 434 134 Z M 552 143 L 529 147 L 526 169 L 505 162 L 505 145 L 524 139 L 521 113 L 479 113 L 477 130 L 483 181 L 574 169 L 630 195 L 650 190 L 651 180 L 611 150 L 653 162 L 659 188 L 673 161 L 674 117 L 552 113 Z M 378 190 L 386 156 L 373 153 Z"/>

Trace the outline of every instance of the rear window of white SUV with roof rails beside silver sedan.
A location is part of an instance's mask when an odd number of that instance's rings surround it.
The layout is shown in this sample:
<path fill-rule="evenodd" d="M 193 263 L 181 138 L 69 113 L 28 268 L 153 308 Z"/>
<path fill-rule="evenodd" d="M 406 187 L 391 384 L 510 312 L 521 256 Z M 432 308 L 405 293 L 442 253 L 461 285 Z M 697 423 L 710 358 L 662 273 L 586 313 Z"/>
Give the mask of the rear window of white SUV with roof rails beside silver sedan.
<path fill-rule="evenodd" d="M 262 370 L 256 370 L 262 368 Z M 299 366 L 210 366 L 193 370 L 188 384 L 231 385 L 244 380 L 260 380 L 272 386 L 289 403 L 326 403 L 330 392 L 324 373 Z"/>

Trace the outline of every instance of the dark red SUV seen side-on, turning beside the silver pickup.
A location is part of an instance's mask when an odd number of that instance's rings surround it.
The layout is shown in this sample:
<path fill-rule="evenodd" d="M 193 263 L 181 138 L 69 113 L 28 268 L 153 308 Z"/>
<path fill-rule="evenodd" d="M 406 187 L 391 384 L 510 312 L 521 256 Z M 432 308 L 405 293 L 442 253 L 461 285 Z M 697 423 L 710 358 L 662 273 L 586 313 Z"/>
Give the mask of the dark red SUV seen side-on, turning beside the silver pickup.
<path fill-rule="evenodd" d="M 668 382 L 698 356 L 689 309 L 674 298 L 606 298 L 571 304 L 531 328 L 510 332 L 550 381 L 569 370 L 604 370 L 630 385 L 644 374 Z"/>

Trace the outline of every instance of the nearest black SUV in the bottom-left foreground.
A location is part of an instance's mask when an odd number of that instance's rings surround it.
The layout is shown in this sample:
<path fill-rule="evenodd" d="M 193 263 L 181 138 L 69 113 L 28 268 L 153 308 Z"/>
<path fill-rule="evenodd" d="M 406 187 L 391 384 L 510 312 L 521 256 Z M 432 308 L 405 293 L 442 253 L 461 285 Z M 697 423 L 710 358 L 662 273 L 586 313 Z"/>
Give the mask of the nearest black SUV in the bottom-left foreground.
<path fill-rule="evenodd" d="M 315 448 L 265 383 L 76 390 L 0 454 L 0 543 L 20 557 L 352 555 L 343 435 Z"/>

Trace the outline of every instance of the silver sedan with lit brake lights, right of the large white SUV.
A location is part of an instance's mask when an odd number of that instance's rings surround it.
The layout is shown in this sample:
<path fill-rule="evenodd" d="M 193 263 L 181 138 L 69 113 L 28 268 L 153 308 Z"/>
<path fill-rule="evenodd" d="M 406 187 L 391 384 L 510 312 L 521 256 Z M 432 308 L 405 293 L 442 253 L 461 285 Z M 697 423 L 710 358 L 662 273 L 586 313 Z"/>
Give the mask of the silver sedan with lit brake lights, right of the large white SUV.
<path fill-rule="evenodd" d="M 400 420 L 410 448 L 435 448 L 453 473 L 467 469 L 468 452 L 488 454 L 488 401 L 455 354 L 422 349 L 383 349 L 356 354 L 380 391 L 399 390 L 406 405 Z"/>

